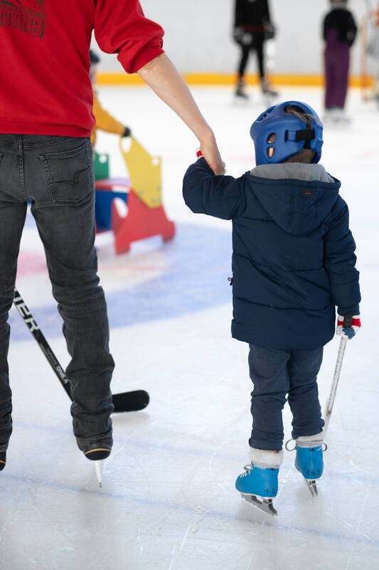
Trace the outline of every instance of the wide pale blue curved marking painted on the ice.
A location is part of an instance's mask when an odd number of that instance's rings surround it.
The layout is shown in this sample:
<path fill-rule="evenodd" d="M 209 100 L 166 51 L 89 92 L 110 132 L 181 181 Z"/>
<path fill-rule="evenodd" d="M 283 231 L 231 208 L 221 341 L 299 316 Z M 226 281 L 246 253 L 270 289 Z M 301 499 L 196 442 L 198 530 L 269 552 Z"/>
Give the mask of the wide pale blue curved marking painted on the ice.
<path fill-rule="evenodd" d="M 177 318 L 231 304 L 228 276 L 231 275 L 232 238 L 227 224 L 225 230 L 178 224 L 174 240 L 159 249 L 165 256 L 165 271 L 137 286 L 110 294 L 105 291 L 110 327 Z M 28 299 L 25 300 L 28 304 Z M 55 306 L 29 308 L 47 338 L 61 336 L 63 321 Z M 11 314 L 11 328 L 12 340 L 32 339 L 16 313 Z"/>

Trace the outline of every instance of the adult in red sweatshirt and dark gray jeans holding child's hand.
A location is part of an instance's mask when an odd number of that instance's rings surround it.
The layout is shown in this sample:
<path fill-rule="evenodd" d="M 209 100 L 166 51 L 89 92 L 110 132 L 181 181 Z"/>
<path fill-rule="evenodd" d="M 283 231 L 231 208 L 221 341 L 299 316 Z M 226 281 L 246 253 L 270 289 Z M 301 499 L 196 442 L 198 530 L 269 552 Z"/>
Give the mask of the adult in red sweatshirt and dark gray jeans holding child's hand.
<path fill-rule="evenodd" d="M 212 130 L 164 54 L 163 29 L 138 0 L 0 0 L 0 470 L 12 429 L 7 321 L 28 200 L 71 356 L 78 446 L 93 460 L 112 449 L 114 362 L 94 247 L 92 30 L 193 130 L 213 171 L 224 170 Z"/>

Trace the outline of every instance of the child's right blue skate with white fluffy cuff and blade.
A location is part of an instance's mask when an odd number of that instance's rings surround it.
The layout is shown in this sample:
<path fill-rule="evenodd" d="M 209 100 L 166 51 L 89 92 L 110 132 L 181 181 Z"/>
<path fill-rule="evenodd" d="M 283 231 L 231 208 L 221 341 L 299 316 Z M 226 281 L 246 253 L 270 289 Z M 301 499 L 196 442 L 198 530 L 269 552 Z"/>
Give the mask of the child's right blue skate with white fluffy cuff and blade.
<path fill-rule="evenodd" d="M 324 432 L 321 431 L 316 435 L 301 435 L 300 437 L 297 437 L 295 443 L 295 467 L 304 477 L 311 495 L 316 497 L 316 480 L 321 477 L 324 471 L 323 447 L 326 450 L 326 444 L 324 444 Z"/>

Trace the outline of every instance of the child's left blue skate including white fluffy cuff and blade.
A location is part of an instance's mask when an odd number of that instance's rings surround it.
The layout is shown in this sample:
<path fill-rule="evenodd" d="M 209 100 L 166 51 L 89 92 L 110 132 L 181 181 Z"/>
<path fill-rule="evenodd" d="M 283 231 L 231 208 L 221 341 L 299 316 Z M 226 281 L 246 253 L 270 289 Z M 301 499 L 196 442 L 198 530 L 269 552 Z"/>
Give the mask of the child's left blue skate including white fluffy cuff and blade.
<path fill-rule="evenodd" d="M 269 452 L 251 448 L 252 462 L 245 465 L 245 472 L 235 482 L 235 488 L 242 498 L 251 502 L 261 511 L 277 514 L 272 499 L 277 496 L 279 467 L 283 462 L 283 452 Z"/>

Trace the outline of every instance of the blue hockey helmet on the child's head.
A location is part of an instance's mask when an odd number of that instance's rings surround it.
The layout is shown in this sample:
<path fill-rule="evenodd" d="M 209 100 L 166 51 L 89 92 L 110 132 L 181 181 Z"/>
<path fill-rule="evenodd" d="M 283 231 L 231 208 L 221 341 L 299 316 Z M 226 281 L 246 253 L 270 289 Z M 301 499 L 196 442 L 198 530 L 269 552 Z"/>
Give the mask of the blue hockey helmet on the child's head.
<path fill-rule="evenodd" d="M 306 115 L 311 115 L 307 117 L 311 125 L 310 129 L 304 128 L 304 120 L 285 111 L 288 105 L 294 105 L 304 111 Z M 250 128 L 250 137 L 255 146 L 255 161 L 257 165 L 278 164 L 290 156 L 296 155 L 301 149 L 310 148 L 315 152 L 312 162 L 319 162 L 321 147 L 324 142 L 322 130 L 323 125 L 319 115 L 306 103 L 285 101 L 272 105 L 261 113 Z M 268 142 L 269 138 L 274 139 L 273 142 Z M 269 156 L 269 148 L 274 149 L 271 157 Z"/>

